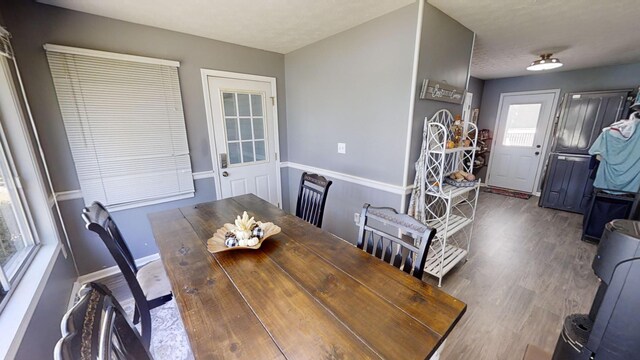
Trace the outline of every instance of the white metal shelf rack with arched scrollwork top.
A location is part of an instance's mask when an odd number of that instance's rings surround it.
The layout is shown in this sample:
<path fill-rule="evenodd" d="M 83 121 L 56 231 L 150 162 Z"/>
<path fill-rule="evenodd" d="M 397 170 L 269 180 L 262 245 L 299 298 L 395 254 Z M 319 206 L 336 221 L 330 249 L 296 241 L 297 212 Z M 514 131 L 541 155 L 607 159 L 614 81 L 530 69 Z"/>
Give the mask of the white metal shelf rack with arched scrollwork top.
<path fill-rule="evenodd" d="M 433 239 L 425 271 L 442 278 L 458 263 L 467 259 L 471 244 L 473 221 L 480 181 L 468 187 L 446 184 L 444 179 L 457 170 L 472 173 L 478 142 L 478 128 L 466 124 L 463 139 L 471 144 L 447 149 L 453 139 L 453 116 L 448 110 L 438 111 L 431 119 L 425 118 L 423 147 L 417 169 L 423 171 L 415 186 L 417 209 L 413 214 L 418 220 L 437 230 Z M 420 164 L 420 161 L 423 163 Z"/>

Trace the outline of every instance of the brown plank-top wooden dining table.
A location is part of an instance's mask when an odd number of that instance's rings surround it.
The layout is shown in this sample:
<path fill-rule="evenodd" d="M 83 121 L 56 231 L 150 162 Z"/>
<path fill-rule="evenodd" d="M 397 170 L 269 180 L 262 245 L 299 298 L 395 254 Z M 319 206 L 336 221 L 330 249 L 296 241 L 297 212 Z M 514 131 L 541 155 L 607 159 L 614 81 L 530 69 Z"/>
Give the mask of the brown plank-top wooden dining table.
<path fill-rule="evenodd" d="M 243 211 L 282 231 L 257 250 L 209 253 Z M 466 310 L 254 195 L 149 220 L 196 359 L 426 359 Z"/>

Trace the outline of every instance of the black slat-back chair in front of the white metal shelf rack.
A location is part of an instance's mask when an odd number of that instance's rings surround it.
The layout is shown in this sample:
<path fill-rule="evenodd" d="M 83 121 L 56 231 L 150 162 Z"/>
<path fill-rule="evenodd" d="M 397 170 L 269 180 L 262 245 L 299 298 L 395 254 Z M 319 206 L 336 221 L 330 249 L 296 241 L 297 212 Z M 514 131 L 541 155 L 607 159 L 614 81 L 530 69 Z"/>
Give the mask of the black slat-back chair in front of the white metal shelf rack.
<path fill-rule="evenodd" d="M 435 229 L 409 215 L 399 214 L 395 209 L 369 204 L 362 207 L 359 225 L 358 248 L 422 279 Z M 398 231 L 403 235 L 390 234 Z"/>

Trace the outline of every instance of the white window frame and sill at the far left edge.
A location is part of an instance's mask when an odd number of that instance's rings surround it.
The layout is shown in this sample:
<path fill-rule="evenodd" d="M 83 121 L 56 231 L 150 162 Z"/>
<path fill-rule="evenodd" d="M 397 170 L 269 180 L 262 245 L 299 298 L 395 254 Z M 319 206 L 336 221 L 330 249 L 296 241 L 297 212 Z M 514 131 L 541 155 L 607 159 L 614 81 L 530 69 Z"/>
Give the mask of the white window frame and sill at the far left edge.
<path fill-rule="evenodd" d="M 12 180 L 18 188 L 24 189 L 21 201 L 37 245 L 25 256 L 12 279 L 11 289 L 2 299 L 0 359 L 16 356 L 36 307 L 42 303 L 42 294 L 54 266 L 65 269 L 65 273 L 68 271 L 65 263 L 73 261 L 75 266 L 73 256 L 67 258 L 71 253 L 62 246 L 60 231 L 66 236 L 66 230 L 9 38 L 10 34 L 0 27 L 2 142 L 5 151 L 10 153 L 12 174 L 20 175 Z M 58 217 L 54 216 L 54 211 Z"/>

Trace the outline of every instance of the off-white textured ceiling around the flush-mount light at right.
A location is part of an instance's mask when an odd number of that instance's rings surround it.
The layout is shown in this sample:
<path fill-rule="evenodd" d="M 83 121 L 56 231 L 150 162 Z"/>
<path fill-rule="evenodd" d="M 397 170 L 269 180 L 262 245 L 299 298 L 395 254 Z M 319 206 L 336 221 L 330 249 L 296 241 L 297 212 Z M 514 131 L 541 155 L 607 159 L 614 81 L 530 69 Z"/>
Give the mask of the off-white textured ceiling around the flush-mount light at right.
<path fill-rule="evenodd" d="M 428 0 L 476 32 L 471 74 L 530 75 L 543 51 L 565 71 L 640 61 L 638 0 Z M 640 80 L 640 79 L 639 79 Z"/>

